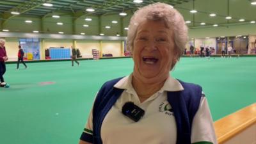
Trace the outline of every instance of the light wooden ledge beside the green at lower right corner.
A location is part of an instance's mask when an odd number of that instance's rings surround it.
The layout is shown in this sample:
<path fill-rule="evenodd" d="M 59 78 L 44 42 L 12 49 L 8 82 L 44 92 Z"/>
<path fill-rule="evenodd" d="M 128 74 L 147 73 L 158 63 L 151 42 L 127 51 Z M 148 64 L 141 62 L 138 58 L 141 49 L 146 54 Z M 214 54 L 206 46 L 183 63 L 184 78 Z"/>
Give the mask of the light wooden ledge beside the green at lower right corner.
<path fill-rule="evenodd" d="M 214 122 L 218 143 L 225 143 L 253 124 L 256 124 L 256 103 Z"/>

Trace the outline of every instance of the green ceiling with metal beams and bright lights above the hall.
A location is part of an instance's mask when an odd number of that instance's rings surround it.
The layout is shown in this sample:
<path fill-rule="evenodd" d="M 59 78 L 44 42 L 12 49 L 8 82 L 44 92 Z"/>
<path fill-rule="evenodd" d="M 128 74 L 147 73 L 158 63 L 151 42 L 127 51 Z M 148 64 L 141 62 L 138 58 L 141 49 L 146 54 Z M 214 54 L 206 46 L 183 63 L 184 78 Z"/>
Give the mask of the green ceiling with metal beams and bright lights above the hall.
<path fill-rule="evenodd" d="M 2 20 L 12 19 L 15 15 L 10 12 L 20 12 L 24 17 L 50 17 L 54 13 L 61 15 L 72 15 L 81 17 L 83 15 L 113 15 L 120 12 L 127 12 L 132 15 L 141 6 L 150 3 L 163 2 L 172 4 L 179 10 L 185 20 L 191 21 L 189 28 L 230 26 L 250 24 L 256 20 L 256 5 L 250 4 L 254 0 L 144 0 L 143 3 L 134 3 L 133 0 L 1 0 L 0 17 Z M 44 3 L 51 3 L 52 6 L 44 6 Z M 94 12 L 86 12 L 86 8 L 95 9 Z M 197 13 L 190 13 L 190 10 L 197 10 Z M 210 17 L 210 13 L 215 13 L 215 17 Z M 225 17 L 231 16 L 227 20 Z M 244 19 L 240 22 L 239 19 Z M 205 25 L 200 23 L 204 22 Z"/>

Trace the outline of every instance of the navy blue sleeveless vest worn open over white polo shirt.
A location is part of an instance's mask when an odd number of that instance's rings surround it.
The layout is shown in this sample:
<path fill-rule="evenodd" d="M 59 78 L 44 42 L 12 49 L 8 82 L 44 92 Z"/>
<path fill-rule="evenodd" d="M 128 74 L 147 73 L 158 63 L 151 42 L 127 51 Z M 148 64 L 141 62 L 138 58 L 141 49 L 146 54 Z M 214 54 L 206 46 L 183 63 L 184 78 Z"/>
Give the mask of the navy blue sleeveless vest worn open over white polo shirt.
<path fill-rule="evenodd" d="M 102 144 L 100 129 L 109 109 L 124 90 L 113 86 L 120 80 L 113 79 L 103 84 L 93 106 L 93 144 Z M 184 90 L 168 92 L 177 125 L 177 144 L 191 144 L 191 124 L 202 97 L 202 88 L 196 84 L 179 81 Z"/>

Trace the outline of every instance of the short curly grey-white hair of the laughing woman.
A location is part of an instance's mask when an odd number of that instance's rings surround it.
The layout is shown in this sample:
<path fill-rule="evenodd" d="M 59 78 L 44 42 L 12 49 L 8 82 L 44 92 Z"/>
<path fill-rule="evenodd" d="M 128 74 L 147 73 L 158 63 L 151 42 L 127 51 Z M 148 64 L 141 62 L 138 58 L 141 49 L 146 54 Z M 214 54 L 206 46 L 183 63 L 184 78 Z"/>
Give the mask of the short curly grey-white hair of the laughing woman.
<path fill-rule="evenodd" d="M 177 60 L 182 56 L 188 41 L 188 27 L 182 15 L 172 6 L 165 3 L 154 3 L 137 10 L 132 16 L 127 33 L 127 50 L 133 51 L 133 42 L 138 31 L 138 26 L 145 20 L 163 20 L 167 28 L 174 34 L 175 51 Z"/>

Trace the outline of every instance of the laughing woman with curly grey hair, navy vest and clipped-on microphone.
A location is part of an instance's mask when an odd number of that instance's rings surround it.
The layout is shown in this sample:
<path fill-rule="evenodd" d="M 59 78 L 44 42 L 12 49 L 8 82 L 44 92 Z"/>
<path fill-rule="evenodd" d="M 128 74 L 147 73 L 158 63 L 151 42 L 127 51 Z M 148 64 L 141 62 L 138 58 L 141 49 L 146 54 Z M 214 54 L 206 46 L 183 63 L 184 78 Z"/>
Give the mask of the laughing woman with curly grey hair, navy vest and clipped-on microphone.
<path fill-rule="evenodd" d="M 134 13 L 127 37 L 134 71 L 100 88 L 79 143 L 216 143 L 202 88 L 170 76 L 187 37 L 182 15 L 168 4 Z"/>

